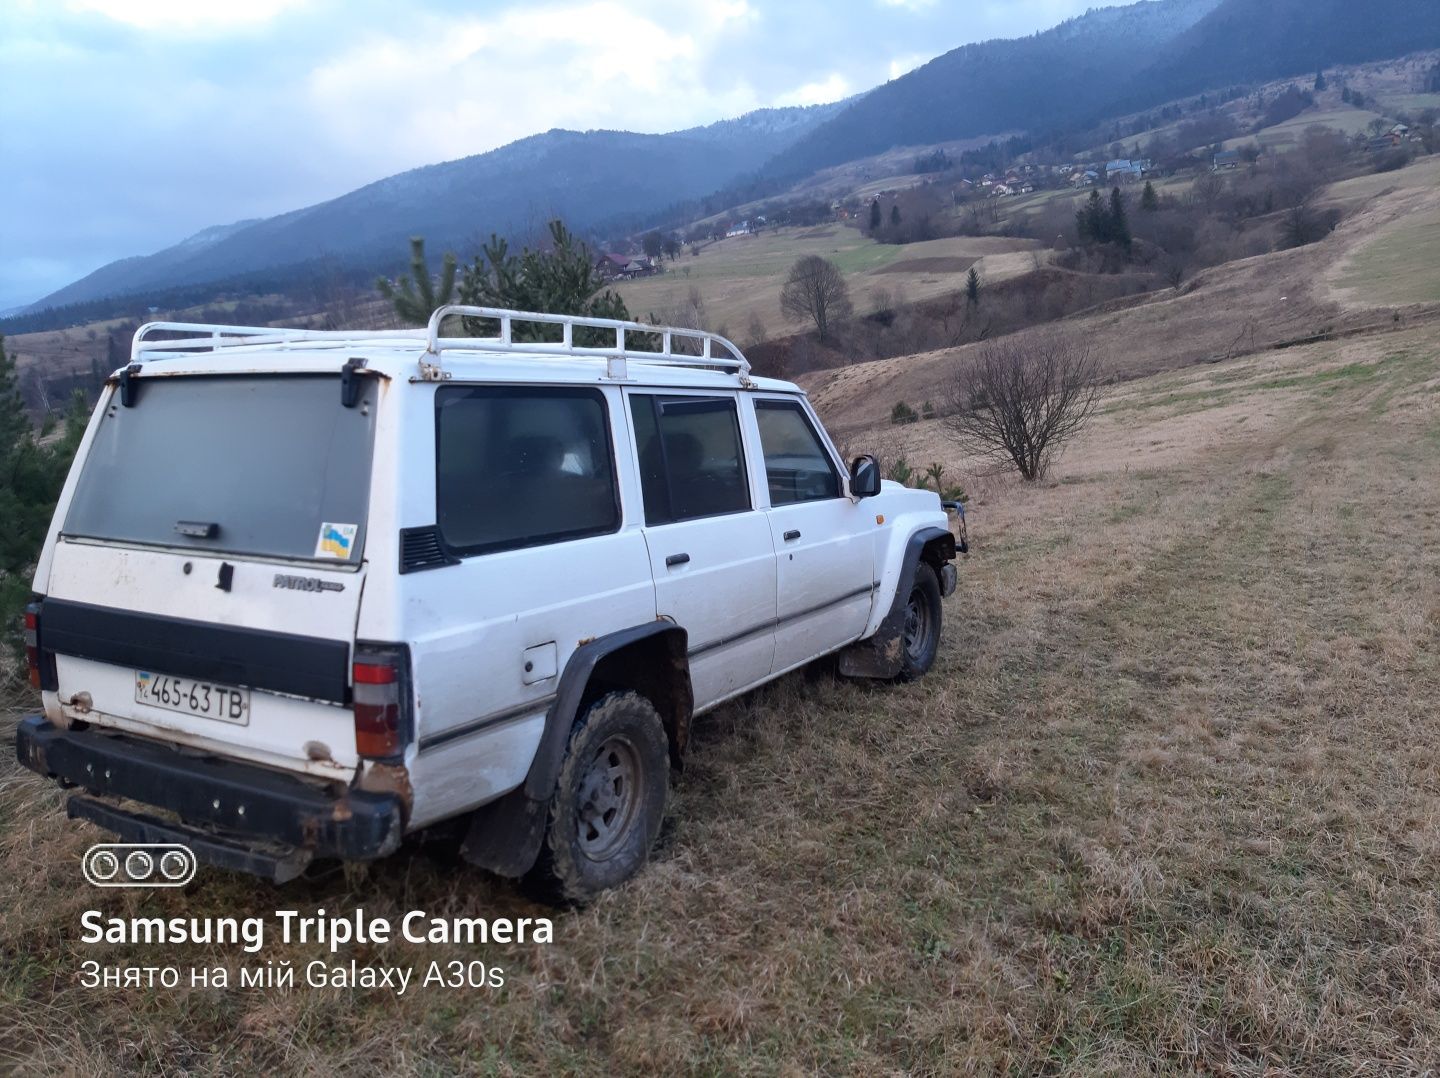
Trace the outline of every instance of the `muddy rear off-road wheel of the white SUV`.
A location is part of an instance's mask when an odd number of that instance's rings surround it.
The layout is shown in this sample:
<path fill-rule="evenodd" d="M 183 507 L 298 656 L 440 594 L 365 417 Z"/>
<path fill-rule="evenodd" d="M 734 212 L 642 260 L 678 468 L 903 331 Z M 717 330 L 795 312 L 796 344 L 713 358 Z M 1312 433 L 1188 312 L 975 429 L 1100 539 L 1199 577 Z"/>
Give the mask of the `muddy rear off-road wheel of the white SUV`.
<path fill-rule="evenodd" d="M 670 744 L 655 705 L 611 692 L 575 723 L 527 889 L 583 905 L 639 872 L 665 816 Z"/>

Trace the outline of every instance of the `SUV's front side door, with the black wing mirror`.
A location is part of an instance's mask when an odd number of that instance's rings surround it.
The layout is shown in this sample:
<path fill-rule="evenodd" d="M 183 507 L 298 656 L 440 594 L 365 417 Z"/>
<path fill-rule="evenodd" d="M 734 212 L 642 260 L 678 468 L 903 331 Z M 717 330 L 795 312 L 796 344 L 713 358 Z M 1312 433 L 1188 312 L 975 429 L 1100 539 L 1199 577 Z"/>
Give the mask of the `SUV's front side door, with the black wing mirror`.
<path fill-rule="evenodd" d="M 840 468 L 796 397 L 755 410 L 776 553 L 776 672 L 860 638 L 874 593 L 876 518 L 845 497 Z"/>

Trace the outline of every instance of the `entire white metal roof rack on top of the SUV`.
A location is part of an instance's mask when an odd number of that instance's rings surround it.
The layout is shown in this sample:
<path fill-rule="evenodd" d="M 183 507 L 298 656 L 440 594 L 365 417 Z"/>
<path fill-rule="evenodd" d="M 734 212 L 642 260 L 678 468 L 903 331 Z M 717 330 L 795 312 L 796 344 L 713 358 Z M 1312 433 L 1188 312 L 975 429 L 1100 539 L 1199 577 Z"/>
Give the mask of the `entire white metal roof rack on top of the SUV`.
<path fill-rule="evenodd" d="M 442 337 L 445 320 L 484 318 L 500 322 L 498 337 Z M 559 341 L 516 340 L 517 324 L 559 325 Z M 603 330 L 615 334 L 612 347 L 595 347 L 575 343 L 575 330 Z M 168 340 L 157 334 L 183 334 Z M 626 341 L 626 334 L 631 340 Z M 641 337 L 641 340 L 634 340 Z M 498 307 L 441 307 L 431 315 L 425 330 L 288 330 L 274 325 L 212 325 L 204 322 L 145 322 L 135 331 L 130 345 L 131 363 L 164 360 L 197 353 L 217 353 L 223 348 L 272 347 L 278 350 L 346 348 L 360 344 L 400 345 L 423 344 L 420 377 L 444 380 L 449 373 L 442 370 L 441 358 L 446 351 L 504 351 L 526 353 L 544 357 L 592 357 L 606 360 L 606 374 L 612 379 L 626 377 L 626 361 L 655 363 L 675 367 L 701 367 L 707 370 L 733 371 L 742 383 L 749 383 L 750 363 L 727 338 L 674 325 L 647 325 L 625 322 L 615 318 L 586 318 L 567 314 L 541 314 L 536 311 L 508 311 Z M 675 347 L 688 343 L 694 348 L 677 351 Z M 654 347 L 658 344 L 658 348 Z M 723 350 L 721 354 L 720 350 Z"/>

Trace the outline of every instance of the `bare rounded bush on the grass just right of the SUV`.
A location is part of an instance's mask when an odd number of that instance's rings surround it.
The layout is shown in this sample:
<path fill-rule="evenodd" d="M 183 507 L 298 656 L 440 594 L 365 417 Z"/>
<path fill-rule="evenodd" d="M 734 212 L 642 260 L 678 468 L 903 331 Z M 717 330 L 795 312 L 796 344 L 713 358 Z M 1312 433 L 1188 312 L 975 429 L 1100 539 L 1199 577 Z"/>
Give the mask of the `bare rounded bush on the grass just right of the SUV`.
<path fill-rule="evenodd" d="M 946 386 L 946 425 L 971 453 L 1044 478 L 1100 403 L 1100 364 L 1061 334 L 1009 337 L 962 360 Z"/>

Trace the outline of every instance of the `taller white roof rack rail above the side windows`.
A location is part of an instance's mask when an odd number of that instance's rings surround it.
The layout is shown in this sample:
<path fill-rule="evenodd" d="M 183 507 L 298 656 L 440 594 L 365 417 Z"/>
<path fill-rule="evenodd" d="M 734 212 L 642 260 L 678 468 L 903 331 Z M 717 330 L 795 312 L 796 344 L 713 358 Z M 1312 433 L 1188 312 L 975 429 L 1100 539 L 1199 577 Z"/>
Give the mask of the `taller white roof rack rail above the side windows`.
<path fill-rule="evenodd" d="M 441 325 L 446 318 L 485 318 L 500 322 L 498 337 L 441 337 Z M 537 322 L 541 325 L 559 325 L 559 341 L 517 341 L 516 322 Z M 575 343 L 575 330 L 611 330 L 615 334 L 613 347 L 583 345 Z M 675 367 L 704 367 L 710 370 L 734 371 L 742 383 L 750 380 L 750 363 L 740 350 L 720 334 L 704 330 L 685 330 L 674 325 L 647 325 L 645 322 L 625 322 L 616 318 L 589 318 L 570 314 L 540 314 L 536 311 L 510 311 L 500 307 L 464 307 L 448 305 L 436 308 L 431 315 L 428 327 L 429 347 L 428 355 L 435 358 L 420 361 L 420 373 L 428 380 L 444 380 L 449 374 L 441 368 L 441 354 L 448 350 L 485 351 L 514 351 L 534 355 L 582 355 L 606 360 L 606 374 L 612 379 L 626 377 L 626 361 L 660 363 Z M 660 348 L 626 347 L 626 334 L 645 334 L 647 343 L 652 343 L 658 335 Z M 698 354 L 678 353 L 678 341 L 694 341 Z M 716 354 L 716 345 L 724 348 L 729 355 Z"/>

